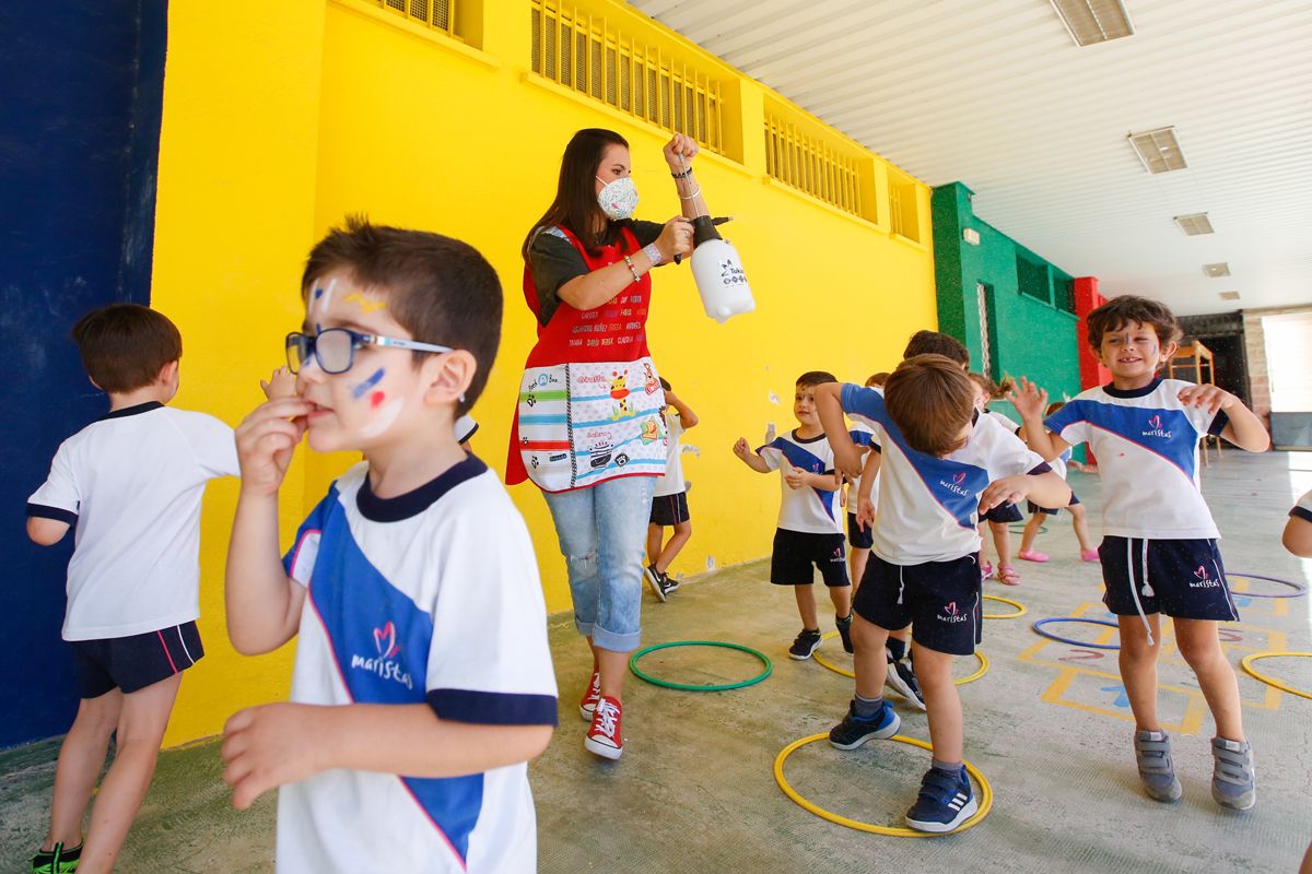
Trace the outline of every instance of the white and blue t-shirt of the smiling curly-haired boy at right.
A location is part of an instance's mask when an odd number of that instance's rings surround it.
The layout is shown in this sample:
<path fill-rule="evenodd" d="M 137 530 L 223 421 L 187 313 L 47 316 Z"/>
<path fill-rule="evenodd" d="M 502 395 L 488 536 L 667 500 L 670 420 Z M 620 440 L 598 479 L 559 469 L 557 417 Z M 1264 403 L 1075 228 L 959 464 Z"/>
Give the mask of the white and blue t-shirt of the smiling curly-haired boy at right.
<path fill-rule="evenodd" d="M 1099 385 L 1044 422 L 1072 447 L 1088 443 L 1102 478 L 1102 531 L 1147 540 L 1214 539 L 1220 533 L 1198 485 L 1198 439 L 1229 418 L 1186 406 L 1193 383 L 1153 380 L 1141 389 Z"/>

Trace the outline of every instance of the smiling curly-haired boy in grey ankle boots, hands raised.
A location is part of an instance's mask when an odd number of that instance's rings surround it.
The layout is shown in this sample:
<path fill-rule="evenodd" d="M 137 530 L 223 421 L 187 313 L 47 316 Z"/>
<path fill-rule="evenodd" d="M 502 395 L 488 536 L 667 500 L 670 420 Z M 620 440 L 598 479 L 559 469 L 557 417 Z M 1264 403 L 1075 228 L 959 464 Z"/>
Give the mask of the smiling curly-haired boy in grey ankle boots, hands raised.
<path fill-rule="evenodd" d="M 1047 392 L 1029 380 L 1008 400 L 1025 419 L 1030 447 L 1044 459 L 1085 442 L 1098 456 L 1103 601 L 1119 617 L 1120 677 L 1135 715 L 1144 790 L 1155 801 L 1181 797 L 1170 739 L 1157 722 L 1158 615 L 1165 613 L 1216 722 L 1212 798 L 1248 810 L 1257 802 L 1253 751 L 1219 634 L 1220 622 L 1236 621 L 1239 613 L 1216 546 L 1216 523 L 1198 485 L 1198 440 L 1219 434 L 1261 452 L 1270 438 L 1233 394 L 1157 376 L 1179 337 L 1176 316 L 1161 303 L 1113 297 L 1085 322 L 1089 346 L 1111 371 L 1111 384 L 1081 392 L 1047 422 Z"/>

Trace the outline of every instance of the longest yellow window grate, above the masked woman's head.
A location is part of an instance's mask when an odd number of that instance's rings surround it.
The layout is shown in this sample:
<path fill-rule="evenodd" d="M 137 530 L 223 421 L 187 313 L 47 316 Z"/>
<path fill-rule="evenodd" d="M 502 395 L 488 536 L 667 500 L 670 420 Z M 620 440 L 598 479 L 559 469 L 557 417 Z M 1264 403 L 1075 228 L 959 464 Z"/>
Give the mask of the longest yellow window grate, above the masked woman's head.
<path fill-rule="evenodd" d="M 530 0 L 530 8 L 533 72 L 724 155 L 718 79 L 569 3 Z"/>

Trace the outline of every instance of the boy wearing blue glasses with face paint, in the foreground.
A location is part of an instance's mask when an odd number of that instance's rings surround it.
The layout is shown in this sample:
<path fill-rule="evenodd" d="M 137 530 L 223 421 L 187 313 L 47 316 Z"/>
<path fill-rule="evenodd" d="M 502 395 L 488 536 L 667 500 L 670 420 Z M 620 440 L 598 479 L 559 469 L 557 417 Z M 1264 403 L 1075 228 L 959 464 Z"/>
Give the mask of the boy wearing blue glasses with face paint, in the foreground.
<path fill-rule="evenodd" d="M 556 723 L 546 607 L 522 518 L 453 431 L 496 355 L 496 274 L 457 240 L 350 220 L 302 296 L 297 394 L 237 430 L 228 636 L 249 655 L 299 641 L 291 701 L 224 729 L 232 802 L 281 786 L 285 874 L 531 871 L 526 763 Z M 303 435 L 365 460 L 279 561 Z"/>

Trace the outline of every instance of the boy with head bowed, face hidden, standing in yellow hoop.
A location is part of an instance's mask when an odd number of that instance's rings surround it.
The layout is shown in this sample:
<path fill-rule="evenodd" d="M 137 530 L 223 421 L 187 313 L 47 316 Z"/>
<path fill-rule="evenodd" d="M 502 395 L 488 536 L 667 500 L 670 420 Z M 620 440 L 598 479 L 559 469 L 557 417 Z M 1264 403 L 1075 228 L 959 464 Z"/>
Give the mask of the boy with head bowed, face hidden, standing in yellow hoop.
<path fill-rule="evenodd" d="M 954 655 L 974 653 L 980 639 L 979 515 L 1027 497 L 1060 504 L 1071 493 L 1014 434 L 979 414 L 972 383 L 959 363 L 942 355 L 904 360 L 884 394 L 850 384 L 820 385 L 816 405 L 844 474 L 855 473 L 859 464 L 844 413 L 871 426 L 882 448 L 882 511 L 853 604 L 855 697 L 829 731 L 829 743 L 855 750 L 897 734 L 901 721 L 883 698 L 884 645 L 891 630 L 909 624 L 933 761 L 907 824 L 950 832 L 977 808 L 962 764 L 962 702 L 951 663 Z"/>

